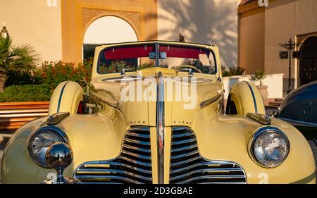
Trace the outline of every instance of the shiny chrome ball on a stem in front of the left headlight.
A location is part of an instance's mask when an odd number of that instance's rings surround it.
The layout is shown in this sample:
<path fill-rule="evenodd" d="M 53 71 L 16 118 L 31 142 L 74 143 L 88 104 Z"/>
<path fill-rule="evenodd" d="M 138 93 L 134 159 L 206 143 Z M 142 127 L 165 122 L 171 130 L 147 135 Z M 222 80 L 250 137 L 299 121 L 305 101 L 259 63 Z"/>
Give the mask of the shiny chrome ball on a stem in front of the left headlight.
<path fill-rule="evenodd" d="M 65 143 L 55 143 L 52 144 L 49 149 L 47 149 L 45 154 L 46 163 L 51 167 L 54 168 L 57 172 L 56 181 L 49 179 L 45 180 L 42 183 L 51 184 L 68 184 L 68 183 L 80 183 L 79 180 L 75 178 L 63 177 L 63 171 L 67 168 L 70 163 L 73 161 L 73 151 L 70 147 Z"/>

